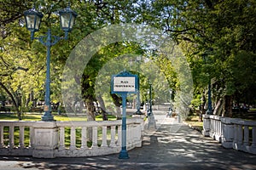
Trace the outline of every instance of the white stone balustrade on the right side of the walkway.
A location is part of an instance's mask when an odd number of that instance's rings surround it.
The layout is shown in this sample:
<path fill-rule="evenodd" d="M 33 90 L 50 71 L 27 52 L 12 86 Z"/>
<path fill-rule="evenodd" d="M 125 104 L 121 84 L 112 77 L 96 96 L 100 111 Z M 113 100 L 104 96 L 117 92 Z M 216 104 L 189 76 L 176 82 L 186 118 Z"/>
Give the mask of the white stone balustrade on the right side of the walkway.
<path fill-rule="evenodd" d="M 218 140 L 225 148 L 256 154 L 256 122 L 205 115 L 203 127 L 205 136 Z"/>

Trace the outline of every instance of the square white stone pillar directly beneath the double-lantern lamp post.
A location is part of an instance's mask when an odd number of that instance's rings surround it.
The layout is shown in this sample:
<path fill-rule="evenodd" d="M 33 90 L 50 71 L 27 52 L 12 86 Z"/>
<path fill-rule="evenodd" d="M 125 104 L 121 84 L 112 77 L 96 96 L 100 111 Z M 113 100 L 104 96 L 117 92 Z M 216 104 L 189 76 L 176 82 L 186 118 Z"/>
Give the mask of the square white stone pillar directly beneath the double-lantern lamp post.
<path fill-rule="evenodd" d="M 56 122 L 36 122 L 34 124 L 33 157 L 54 158 L 58 142 Z"/>

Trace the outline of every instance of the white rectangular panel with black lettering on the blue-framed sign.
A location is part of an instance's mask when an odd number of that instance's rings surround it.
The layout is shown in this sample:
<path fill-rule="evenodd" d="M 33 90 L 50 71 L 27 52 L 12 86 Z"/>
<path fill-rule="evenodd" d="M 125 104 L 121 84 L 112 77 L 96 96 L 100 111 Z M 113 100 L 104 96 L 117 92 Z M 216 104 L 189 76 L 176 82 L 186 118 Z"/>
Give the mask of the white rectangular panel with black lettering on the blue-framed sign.
<path fill-rule="evenodd" d="M 114 92 L 136 92 L 135 77 L 113 77 Z"/>

